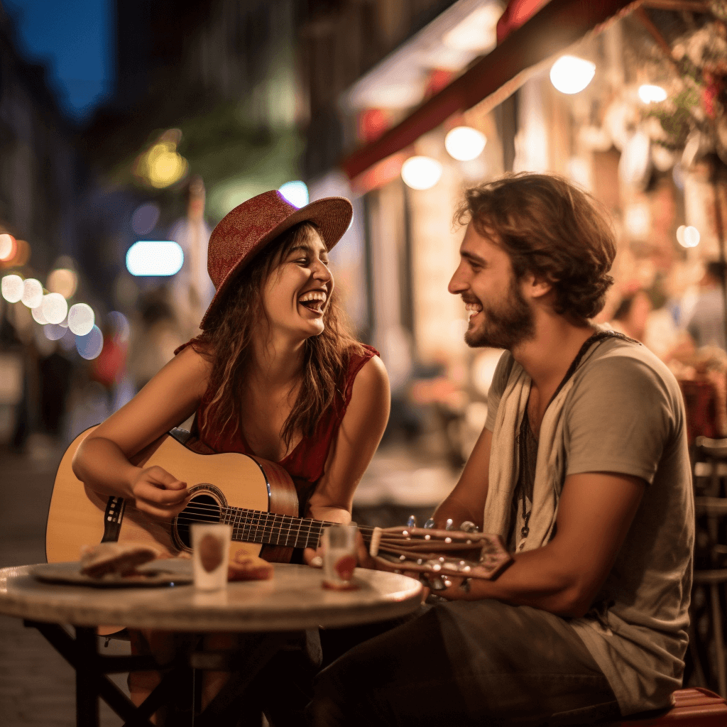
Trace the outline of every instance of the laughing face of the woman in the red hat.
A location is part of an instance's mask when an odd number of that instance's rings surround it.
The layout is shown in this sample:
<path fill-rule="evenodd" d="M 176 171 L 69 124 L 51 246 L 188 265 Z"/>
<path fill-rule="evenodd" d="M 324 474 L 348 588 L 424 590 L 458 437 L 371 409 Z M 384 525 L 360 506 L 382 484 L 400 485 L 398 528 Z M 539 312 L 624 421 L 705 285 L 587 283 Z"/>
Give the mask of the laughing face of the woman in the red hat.
<path fill-rule="evenodd" d="M 324 332 L 324 313 L 333 292 L 328 251 L 318 233 L 289 249 L 262 289 L 262 305 L 273 330 L 300 340 Z"/>

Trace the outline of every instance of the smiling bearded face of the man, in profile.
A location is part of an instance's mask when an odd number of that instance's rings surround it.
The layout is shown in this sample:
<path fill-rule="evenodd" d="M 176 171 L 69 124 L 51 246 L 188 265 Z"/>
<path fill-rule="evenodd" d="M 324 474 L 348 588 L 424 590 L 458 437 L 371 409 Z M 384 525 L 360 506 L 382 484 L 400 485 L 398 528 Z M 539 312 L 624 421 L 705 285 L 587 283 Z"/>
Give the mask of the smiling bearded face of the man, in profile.
<path fill-rule="evenodd" d="M 449 292 L 462 296 L 469 313 L 467 345 L 512 350 L 533 337 L 534 314 L 507 253 L 470 224 L 459 255 L 462 259 L 449 281 Z"/>

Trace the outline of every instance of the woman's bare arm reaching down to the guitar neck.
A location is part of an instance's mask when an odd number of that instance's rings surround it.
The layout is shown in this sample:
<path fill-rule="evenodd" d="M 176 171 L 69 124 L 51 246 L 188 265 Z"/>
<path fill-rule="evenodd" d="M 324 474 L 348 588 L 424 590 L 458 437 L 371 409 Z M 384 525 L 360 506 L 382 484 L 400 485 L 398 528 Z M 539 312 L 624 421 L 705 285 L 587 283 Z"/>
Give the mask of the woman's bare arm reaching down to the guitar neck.
<path fill-rule="evenodd" d="M 308 516 L 349 523 L 353 492 L 374 456 L 389 420 L 389 377 L 378 356 L 366 361 L 353 382 L 348 409 L 326 462 L 326 471 L 308 501 Z M 312 551 L 308 553 L 312 555 Z"/>

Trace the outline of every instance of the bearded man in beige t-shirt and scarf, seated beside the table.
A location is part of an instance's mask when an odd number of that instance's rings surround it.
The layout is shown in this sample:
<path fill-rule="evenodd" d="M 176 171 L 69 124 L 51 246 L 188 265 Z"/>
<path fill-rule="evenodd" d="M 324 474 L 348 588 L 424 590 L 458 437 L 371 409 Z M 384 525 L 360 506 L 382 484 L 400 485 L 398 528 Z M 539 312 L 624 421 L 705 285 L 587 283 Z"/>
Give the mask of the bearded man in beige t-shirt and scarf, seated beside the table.
<path fill-rule="evenodd" d="M 337 659 L 313 721 L 572 725 L 665 707 L 687 646 L 691 468 L 670 371 L 591 322 L 614 235 L 593 198 L 545 174 L 470 189 L 456 219 L 465 341 L 505 353 L 434 518 L 499 534 L 513 562 L 450 579 L 443 601 Z"/>

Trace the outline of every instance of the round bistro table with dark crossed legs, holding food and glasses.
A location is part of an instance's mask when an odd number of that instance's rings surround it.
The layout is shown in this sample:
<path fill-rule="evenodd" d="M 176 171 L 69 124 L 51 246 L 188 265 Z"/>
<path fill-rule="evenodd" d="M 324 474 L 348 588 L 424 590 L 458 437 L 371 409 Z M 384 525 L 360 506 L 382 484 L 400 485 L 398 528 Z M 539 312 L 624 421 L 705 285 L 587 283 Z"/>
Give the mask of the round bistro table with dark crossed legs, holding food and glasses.
<path fill-rule="evenodd" d="M 166 587 L 92 587 L 41 582 L 32 566 L 0 569 L 0 613 L 18 616 L 36 627 L 76 670 L 76 723 L 99 723 L 99 697 L 128 723 L 150 725 L 150 715 L 169 699 L 180 683 L 193 686 L 194 670 L 230 668 L 230 655 L 195 653 L 186 664 L 176 664 L 162 683 L 140 705 L 105 675 L 158 667 L 149 656 L 102 656 L 96 629 L 102 624 L 169 631 L 236 631 L 266 634 L 259 653 L 245 656 L 230 670 L 229 688 L 198 713 L 197 700 L 188 710 L 187 724 L 214 724 L 222 710 L 239 694 L 277 650 L 300 644 L 305 630 L 335 628 L 394 619 L 415 611 L 422 585 L 412 578 L 356 569 L 356 590 L 327 590 L 322 571 L 308 566 L 276 563 L 267 581 L 232 582 L 225 590 L 204 593 L 192 585 Z M 60 624 L 75 628 L 72 638 Z M 254 651 L 254 650 L 253 650 Z M 190 669 L 190 667 L 192 667 Z M 198 690 L 192 688 L 193 694 Z M 211 711 L 212 710 L 212 711 Z M 258 723 L 259 724 L 259 723 Z"/>

